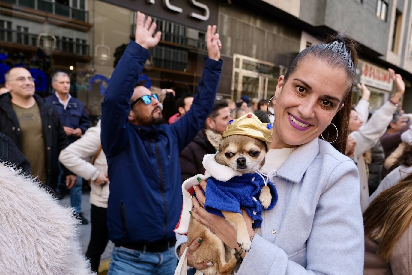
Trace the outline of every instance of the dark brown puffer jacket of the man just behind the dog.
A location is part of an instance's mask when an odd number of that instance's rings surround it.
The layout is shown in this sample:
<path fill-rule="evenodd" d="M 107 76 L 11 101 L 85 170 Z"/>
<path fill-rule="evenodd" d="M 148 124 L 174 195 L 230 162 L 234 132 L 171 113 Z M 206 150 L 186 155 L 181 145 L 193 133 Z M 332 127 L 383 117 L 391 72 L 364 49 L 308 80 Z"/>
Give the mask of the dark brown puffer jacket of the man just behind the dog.
<path fill-rule="evenodd" d="M 180 153 L 180 172 L 182 182 L 197 174 L 204 174 L 203 156 L 216 153 L 215 147 L 208 141 L 205 129 L 197 135 Z"/>

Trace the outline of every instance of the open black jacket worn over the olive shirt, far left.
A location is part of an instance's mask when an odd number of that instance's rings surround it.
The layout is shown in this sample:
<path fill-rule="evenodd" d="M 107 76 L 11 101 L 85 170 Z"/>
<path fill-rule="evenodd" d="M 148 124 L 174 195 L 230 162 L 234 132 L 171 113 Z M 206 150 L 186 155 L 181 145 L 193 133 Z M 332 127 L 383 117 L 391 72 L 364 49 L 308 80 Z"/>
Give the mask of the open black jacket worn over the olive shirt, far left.
<path fill-rule="evenodd" d="M 0 132 L 8 136 L 21 150 L 20 125 L 11 99 L 10 93 L 0 96 Z M 46 184 L 56 190 L 59 177 L 59 154 L 61 150 L 66 148 L 68 141 L 56 110 L 37 94 L 34 95 L 34 99 L 39 106 L 42 118 L 44 147 L 46 148 Z M 65 169 L 65 174 L 69 174 L 67 169 Z"/>

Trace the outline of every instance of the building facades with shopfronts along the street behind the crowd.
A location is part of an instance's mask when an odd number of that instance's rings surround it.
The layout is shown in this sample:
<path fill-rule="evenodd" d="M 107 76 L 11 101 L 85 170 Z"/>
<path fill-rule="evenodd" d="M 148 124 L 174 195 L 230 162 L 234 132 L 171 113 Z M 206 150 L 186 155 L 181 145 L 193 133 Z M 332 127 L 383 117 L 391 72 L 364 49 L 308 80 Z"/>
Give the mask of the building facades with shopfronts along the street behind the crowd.
<path fill-rule="evenodd" d="M 410 0 L 6 0 L 0 3 L 0 52 L 8 57 L 0 65 L 24 59 L 25 65 L 47 76 L 69 72 L 72 91 L 91 115 L 98 116 L 102 94 L 133 39 L 140 10 L 154 17 L 162 31 L 143 72 L 152 85 L 175 89 L 178 96 L 197 92 L 207 56 L 206 27 L 216 24 L 225 61 L 218 96 L 270 99 L 279 76 L 302 49 L 343 31 L 361 45 L 356 81 L 370 88 L 371 110 L 393 92 L 387 73 L 393 68 L 405 80 L 403 108 L 412 112 L 411 4 Z M 355 89 L 354 103 L 359 97 Z"/>

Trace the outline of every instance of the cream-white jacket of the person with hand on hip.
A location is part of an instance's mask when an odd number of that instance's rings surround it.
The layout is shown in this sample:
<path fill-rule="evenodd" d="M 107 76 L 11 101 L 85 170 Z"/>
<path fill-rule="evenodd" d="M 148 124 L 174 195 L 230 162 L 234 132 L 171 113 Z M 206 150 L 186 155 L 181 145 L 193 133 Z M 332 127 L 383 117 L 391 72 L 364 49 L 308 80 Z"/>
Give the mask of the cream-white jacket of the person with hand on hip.
<path fill-rule="evenodd" d="M 107 160 L 103 150 L 96 158 L 94 165 L 86 160 L 88 158 L 92 160 L 99 150 L 101 146 L 100 132 L 99 120 L 96 127 L 90 127 L 81 139 L 71 143 L 60 152 L 60 162 L 71 172 L 87 180 L 95 179 L 100 171 L 107 173 Z M 90 203 L 97 207 L 107 208 L 109 183 L 97 186 L 92 181 L 90 187 Z"/>

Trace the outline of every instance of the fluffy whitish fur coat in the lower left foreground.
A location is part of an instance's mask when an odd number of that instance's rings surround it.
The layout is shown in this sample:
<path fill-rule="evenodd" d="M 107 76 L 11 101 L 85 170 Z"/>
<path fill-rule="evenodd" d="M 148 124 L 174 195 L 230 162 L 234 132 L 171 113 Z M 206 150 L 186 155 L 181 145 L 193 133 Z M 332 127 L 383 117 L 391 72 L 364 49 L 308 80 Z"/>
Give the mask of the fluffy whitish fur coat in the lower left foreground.
<path fill-rule="evenodd" d="M 73 210 L 4 163 L 0 175 L 0 274 L 96 274 L 81 253 Z"/>

